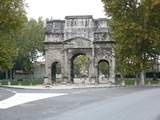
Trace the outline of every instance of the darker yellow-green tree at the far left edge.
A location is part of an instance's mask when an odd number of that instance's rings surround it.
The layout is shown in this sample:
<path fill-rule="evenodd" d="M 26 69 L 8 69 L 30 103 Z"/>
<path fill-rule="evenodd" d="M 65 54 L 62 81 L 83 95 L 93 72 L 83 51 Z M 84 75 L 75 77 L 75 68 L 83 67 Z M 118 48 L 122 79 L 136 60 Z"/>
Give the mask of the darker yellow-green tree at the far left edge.
<path fill-rule="evenodd" d="M 14 34 L 26 20 L 23 0 L 0 1 L 0 70 L 9 70 L 16 56 Z"/>

